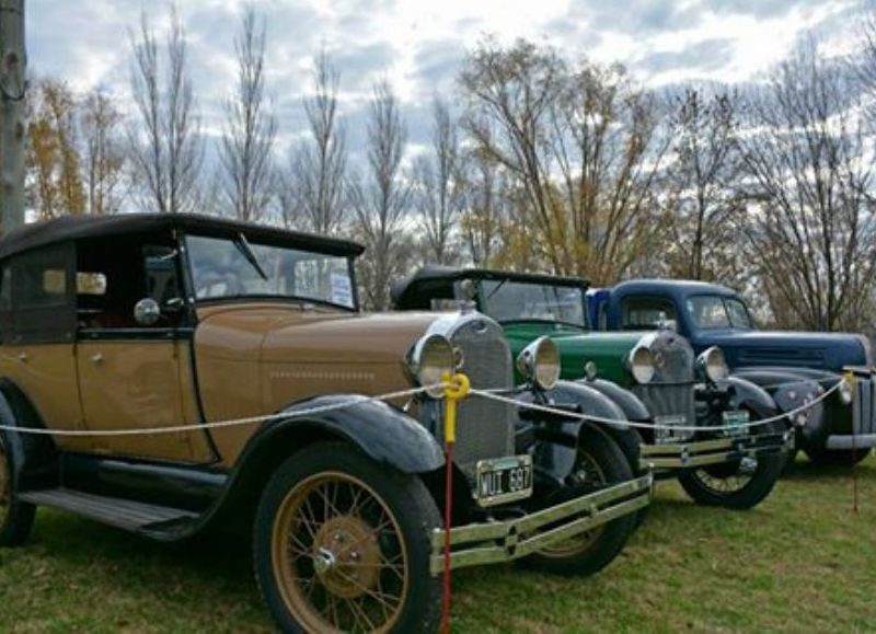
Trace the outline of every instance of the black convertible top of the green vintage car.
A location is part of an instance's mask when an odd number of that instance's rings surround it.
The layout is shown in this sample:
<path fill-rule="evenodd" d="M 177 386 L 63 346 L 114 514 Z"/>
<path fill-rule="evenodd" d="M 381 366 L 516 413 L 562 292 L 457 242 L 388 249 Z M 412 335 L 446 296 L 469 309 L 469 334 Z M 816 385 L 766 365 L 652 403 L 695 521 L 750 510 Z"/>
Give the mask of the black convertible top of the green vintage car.
<path fill-rule="evenodd" d="M 510 279 L 530 284 L 549 284 L 586 289 L 589 283 L 580 277 L 561 277 L 543 273 L 516 273 L 489 268 L 457 268 L 427 264 L 392 285 L 390 298 L 399 310 L 428 309 L 433 299 L 456 299 L 453 283 L 461 279 Z"/>

